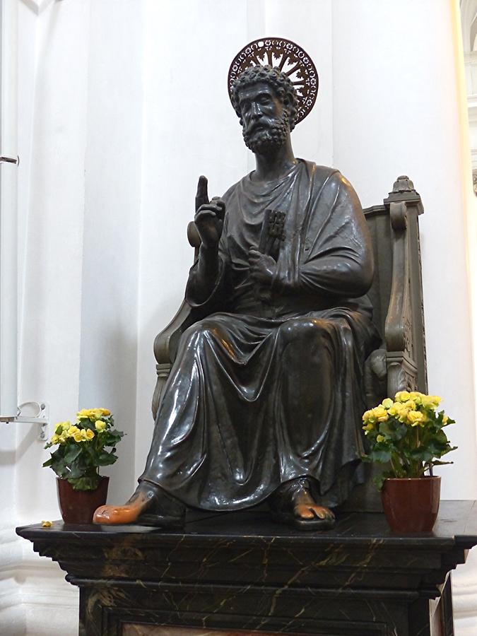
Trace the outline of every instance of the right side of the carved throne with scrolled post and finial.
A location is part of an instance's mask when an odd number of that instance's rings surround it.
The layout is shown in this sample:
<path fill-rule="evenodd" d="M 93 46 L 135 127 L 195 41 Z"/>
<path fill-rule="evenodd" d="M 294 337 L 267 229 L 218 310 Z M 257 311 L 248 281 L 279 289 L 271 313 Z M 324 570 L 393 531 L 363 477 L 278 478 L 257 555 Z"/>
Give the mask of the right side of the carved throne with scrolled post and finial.
<path fill-rule="evenodd" d="M 368 295 L 382 338 L 365 373 L 367 401 L 375 406 L 397 391 L 428 390 L 418 221 L 423 204 L 413 182 L 403 176 L 381 206 L 364 213 L 375 253 Z"/>

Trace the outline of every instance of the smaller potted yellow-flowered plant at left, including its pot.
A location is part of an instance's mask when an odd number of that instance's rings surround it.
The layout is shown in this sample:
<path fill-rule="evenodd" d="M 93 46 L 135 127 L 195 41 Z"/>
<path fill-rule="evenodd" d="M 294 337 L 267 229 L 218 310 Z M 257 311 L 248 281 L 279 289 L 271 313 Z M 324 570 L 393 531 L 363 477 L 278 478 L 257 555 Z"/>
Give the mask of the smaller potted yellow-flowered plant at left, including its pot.
<path fill-rule="evenodd" d="M 109 477 L 100 466 L 117 460 L 116 445 L 124 433 L 114 428 L 107 408 L 83 408 L 76 423 L 60 422 L 45 449 L 57 447 L 43 466 L 57 473 L 58 500 L 65 523 L 86 524 L 96 508 L 106 503 Z"/>

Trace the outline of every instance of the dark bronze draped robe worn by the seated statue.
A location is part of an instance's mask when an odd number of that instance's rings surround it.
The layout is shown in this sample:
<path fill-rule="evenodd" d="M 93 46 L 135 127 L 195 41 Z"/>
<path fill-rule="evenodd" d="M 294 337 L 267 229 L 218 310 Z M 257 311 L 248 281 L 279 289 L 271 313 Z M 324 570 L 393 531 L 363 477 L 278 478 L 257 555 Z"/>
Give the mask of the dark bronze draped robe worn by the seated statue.
<path fill-rule="evenodd" d="M 363 369 L 377 346 L 360 202 L 338 171 L 304 160 L 223 198 L 217 281 L 199 302 L 197 264 L 189 273 L 187 301 L 206 317 L 182 334 L 140 480 L 193 507 L 239 510 L 307 476 L 317 502 L 336 506 L 363 451 Z M 268 291 L 248 264 L 266 208 L 285 213 Z"/>

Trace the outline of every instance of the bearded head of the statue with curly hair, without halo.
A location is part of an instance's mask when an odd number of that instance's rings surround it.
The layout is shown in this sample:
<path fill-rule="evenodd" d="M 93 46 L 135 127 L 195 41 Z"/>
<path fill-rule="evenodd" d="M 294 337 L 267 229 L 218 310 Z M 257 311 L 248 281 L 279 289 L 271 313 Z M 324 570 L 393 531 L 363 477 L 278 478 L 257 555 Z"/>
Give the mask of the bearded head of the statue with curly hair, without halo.
<path fill-rule="evenodd" d="M 297 96 L 285 73 L 271 66 L 249 66 L 235 80 L 232 105 L 252 152 L 283 146 L 295 127 Z"/>

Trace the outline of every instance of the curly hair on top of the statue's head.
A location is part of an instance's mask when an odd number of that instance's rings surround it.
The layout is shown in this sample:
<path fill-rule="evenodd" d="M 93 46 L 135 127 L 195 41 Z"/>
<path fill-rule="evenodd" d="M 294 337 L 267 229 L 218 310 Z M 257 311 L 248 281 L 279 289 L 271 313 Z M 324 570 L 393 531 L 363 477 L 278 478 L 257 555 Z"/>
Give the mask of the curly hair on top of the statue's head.
<path fill-rule="evenodd" d="M 268 64 L 264 66 L 249 66 L 237 77 L 232 86 L 232 106 L 242 124 L 242 112 L 240 112 L 239 93 L 244 88 L 249 88 L 257 82 L 264 82 L 273 88 L 276 96 L 281 99 L 283 105 L 288 108 L 290 131 L 295 128 L 295 117 L 297 114 L 297 98 L 295 87 L 290 78 L 279 69 Z"/>

